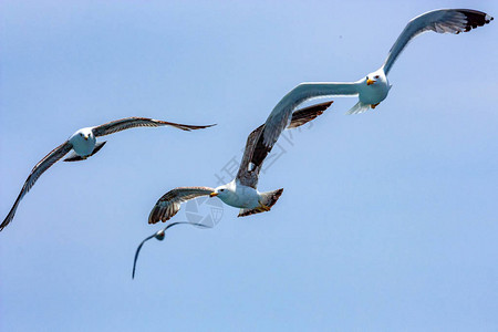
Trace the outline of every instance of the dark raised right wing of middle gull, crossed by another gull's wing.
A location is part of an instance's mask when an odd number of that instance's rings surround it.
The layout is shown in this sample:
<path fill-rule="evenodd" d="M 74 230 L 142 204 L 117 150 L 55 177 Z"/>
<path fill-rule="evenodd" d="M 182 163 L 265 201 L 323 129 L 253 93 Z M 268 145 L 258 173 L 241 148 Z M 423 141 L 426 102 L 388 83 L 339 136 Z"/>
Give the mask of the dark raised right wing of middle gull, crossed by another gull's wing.
<path fill-rule="evenodd" d="M 333 102 L 330 101 L 295 111 L 294 113 L 292 113 L 291 122 L 287 127 L 295 128 L 314 120 L 326 108 L 329 108 L 332 103 Z M 263 135 L 261 133 L 263 132 L 264 127 L 266 125 L 260 125 L 249 134 L 249 137 L 247 137 L 242 162 L 240 163 L 239 172 L 237 173 L 237 178 L 242 185 L 252 187 L 255 189 L 258 186 L 258 176 L 262 163 L 273 147 L 273 145 L 268 147 L 263 144 Z M 255 165 L 253 169 L 249 169 L 249 163 L 252 163 Z"/>

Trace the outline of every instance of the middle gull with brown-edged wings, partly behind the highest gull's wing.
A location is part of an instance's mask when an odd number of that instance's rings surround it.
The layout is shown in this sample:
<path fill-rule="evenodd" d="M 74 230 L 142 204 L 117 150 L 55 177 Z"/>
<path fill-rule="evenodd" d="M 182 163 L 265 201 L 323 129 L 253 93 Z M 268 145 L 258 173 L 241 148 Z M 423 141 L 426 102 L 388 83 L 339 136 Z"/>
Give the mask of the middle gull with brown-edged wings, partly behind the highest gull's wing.
<path fill-rule="evenodd" d="M 321 115 L 331 104 L 332 102 L 326 102 L 295 111 L 287 127 L 295 128 L 312 121 Z M 148 217 L 148 224 L 169 220 L 179 211 L 181 203 L 199 196 L 218 197 L 225 204 L 240 208 L 238 217 L 269 211 L 280 195 L 282 195 L 283 188 L 267 193 L 258 191 L 258 177 L 262 163 L 253 169 L 250 169 L 249 165 L 252 155 L 257 153 L 258 138 L 264 127 L 266 124 L 249 134 L 242 160 L 234 180 L 217 188 L 178 187 L 169 190 L 157 200 Z M 266 149 L 264 153 L 266 156 L 269 151 Z"/>

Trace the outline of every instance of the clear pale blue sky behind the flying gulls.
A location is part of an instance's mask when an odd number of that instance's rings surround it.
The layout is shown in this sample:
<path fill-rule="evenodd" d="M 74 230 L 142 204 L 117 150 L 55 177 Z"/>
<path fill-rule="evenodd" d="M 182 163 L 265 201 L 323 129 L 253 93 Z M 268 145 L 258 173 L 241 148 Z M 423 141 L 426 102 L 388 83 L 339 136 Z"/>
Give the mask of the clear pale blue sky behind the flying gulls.
<path fill-rule="evenodd" d="M 218 125 L 122 132 L 43 174 L 0 234 L 0 330 L 497 331 L 496 20 L 418 37 L 375 111 L 336 98 L 280 141 L 259 181 L 284 188 L 270 212 L 172 228 L 131 279 L 163 194 L 217 186 L 293 86 L 359 80 L 409 19 L 448 7 L 498 15 L 496 1 L 1 1 L 2 219 L 81 127 Z"/>

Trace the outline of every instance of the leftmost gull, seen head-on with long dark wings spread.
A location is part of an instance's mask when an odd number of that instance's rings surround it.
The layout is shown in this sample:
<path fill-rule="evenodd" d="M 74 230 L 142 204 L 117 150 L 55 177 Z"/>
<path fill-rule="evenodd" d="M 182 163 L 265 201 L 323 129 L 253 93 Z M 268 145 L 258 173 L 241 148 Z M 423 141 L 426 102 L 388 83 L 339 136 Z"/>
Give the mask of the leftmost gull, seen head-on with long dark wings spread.
<path fill-rule="evenodd" d="M 14 205 L 10 209 L 9 215 L 7 215 L 3 222 L 0 225 L 0 231 L 12 221 L 18 205 L 24 195 L 31 189 L 38 178 L 62 157 L 64 157 L 69 152 L 72 151 L 70 156 L 64 159 L 64 162 L 79 162 L 84 160 L 94 154 L 96 154 L 106 143 L 96 142 L 96 137 L 105 136 L 108 134 L 117 133 L 121 131 L 134 128 L 134 127 L 159 127 L 159 126 L 172 126 L 181 131 L 201 129 L 214 125 L 185 125 L 173 122 L 165 122 L 159 120 L 146 118 L 146 117 L 126 117 L 122 120 L 112 121 L 110 123 L 94 126 L 85 127 L 76 131 L 68 141 L 55 147 L 46 156 L 43 157 L 31 170 L 30 176 L 22 186 L 21 193 L 15 199 Z"/>

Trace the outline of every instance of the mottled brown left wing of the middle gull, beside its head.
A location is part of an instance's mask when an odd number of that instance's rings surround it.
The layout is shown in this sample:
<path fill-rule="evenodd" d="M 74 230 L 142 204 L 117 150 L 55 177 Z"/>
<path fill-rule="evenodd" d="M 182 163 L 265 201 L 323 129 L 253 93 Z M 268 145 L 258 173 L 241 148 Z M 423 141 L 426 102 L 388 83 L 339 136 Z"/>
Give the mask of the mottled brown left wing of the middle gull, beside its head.
<path fill-rule="evenodd" d="M 209 187 L 179 187 L 169 190 L 153 207 L 148 216 L 148 224 L 165 222 L 179 211 L 181 203 L 199 196 L 207 196 L 214 191 L 215 189 Z"/>

